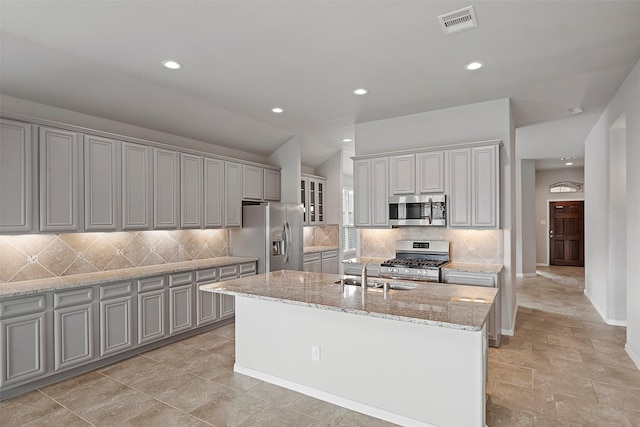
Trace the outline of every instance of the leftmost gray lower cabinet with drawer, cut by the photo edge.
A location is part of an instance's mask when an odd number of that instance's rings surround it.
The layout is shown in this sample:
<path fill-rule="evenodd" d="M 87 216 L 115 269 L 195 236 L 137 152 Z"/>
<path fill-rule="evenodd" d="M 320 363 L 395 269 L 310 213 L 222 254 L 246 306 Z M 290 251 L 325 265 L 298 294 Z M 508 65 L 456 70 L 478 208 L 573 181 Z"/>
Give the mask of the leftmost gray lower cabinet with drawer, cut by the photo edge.
<path fill-rule="evenodd" d="M 47 373 L 45 295 L 0 301 L 0 387 Z"/>

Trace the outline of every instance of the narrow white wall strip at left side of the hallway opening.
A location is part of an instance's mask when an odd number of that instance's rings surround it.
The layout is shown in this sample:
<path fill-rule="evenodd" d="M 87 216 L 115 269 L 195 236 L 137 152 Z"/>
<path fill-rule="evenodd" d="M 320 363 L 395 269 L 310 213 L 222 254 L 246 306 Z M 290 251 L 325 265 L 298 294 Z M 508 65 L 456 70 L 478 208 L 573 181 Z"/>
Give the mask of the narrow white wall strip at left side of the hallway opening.
<path fill-rule="evenodd" d="M 536 275 L 536 161 L 517 163 L 516 186 L 516 274 L 519 277 Z M 519 169 L 519 170 L 518 170 Z"/>

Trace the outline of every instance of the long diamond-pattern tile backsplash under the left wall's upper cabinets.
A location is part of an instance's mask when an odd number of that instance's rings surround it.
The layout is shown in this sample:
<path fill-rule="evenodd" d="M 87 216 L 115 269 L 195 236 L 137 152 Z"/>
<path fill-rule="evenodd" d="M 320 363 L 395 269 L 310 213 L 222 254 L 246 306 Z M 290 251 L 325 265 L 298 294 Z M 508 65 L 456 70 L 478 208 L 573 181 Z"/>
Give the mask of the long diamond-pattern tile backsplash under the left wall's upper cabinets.
<path fill-rule="evenodd" d="M 227 230 L 0 236 L 0 283 L 229 255 Z"/>

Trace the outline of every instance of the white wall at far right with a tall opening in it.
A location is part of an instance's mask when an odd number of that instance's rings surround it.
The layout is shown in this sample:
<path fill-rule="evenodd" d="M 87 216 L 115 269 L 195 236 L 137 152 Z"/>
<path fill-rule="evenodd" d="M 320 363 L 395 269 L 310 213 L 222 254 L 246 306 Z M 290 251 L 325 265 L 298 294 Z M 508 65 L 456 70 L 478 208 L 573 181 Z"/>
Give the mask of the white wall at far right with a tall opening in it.
<path fill-rule="evenodd" d="M 627 170 L 627 352 L 640 366 L 640 61 L 620 86 L 604 113 L 585 140 L 585 294 L 602 317 L 620 318 L 620 310 L 608 303 L 609 255 L 602 245 L 609 242 L 609 130 L 626 114 Z"/>

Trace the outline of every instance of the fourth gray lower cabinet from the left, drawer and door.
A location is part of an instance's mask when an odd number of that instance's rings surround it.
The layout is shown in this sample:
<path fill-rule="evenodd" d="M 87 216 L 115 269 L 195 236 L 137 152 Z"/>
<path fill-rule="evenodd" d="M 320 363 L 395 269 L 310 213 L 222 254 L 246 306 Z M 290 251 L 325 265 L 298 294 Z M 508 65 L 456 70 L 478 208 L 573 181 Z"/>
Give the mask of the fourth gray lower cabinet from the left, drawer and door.
<path fill-rule="evenodd" d="M 157 341 L 167 334 L 164 276 L 138 280 L 138 344 Z"/>

